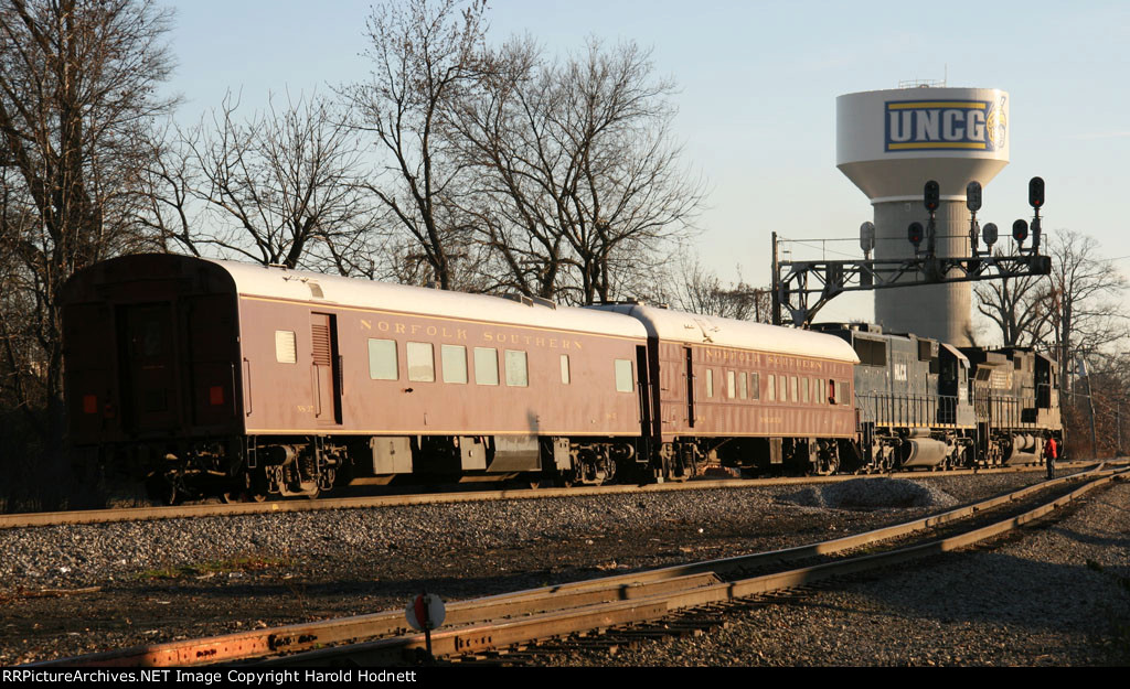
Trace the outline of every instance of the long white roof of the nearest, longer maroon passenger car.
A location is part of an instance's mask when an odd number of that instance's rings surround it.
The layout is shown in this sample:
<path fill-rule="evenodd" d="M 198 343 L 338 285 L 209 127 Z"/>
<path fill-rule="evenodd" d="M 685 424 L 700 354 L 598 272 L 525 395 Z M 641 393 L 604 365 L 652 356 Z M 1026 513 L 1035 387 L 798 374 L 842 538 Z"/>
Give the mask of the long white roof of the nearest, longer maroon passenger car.
<path fill-rule="evenodd" d="M 450 316 L 489 323 L 506 323 L 645 339 L 643 324 L 624 315 L 588 308 L 523 304 L 503 297 L 393 285 L 358 278 L 290 270 L 236 261 L 209 261 L 224 268 L 242 297 L 264 297 L 372 308 L 405 314 Z M 315 297 L 312 286 L 321 289 Z"/>

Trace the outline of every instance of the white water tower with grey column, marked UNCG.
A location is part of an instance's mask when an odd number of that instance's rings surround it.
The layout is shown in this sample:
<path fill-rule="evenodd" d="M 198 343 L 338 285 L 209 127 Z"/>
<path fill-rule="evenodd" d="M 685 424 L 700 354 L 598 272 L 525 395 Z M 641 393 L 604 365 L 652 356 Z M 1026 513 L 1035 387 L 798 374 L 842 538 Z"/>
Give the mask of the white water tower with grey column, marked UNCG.
<path fill-rule="evenodd" d="M 1008 165 L 1008 94 L 993 88 L 912 87 L 836 98 L 836 167 L 875 207 L 875 258 L 907 259 L 906 227 L 925 224 L 922 187 L 940 185 L 937 255 L 970 255 L 965 187 Z M 970 282 L 875 293 L 885 330 L 971 344 Z"/>

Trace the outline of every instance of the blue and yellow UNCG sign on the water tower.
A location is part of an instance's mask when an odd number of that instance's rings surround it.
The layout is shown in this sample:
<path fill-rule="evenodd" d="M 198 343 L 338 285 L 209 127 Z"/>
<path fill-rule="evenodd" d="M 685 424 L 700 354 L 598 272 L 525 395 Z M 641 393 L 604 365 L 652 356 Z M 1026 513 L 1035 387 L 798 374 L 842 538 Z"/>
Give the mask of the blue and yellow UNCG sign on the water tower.
<path fill-rule="evenodd" d="M 991 101 L 888 101 L 888 151 L 997 150 L 1005 145 L 1003 98 Z"/>

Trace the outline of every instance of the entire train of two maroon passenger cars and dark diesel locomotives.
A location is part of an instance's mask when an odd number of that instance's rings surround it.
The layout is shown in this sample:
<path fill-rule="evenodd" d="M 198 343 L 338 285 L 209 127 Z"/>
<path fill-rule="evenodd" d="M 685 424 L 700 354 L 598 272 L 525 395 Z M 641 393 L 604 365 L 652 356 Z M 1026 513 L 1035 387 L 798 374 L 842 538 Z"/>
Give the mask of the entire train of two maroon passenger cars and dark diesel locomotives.
<path fill-rule="evenodd" d="M 573 308 L 168 254 L 90 267 L 61 306 L 71 444 L 168 500 L 405 476 L 1035 462 L 1061 436 L 1043 355 L 868 325 Z"/>

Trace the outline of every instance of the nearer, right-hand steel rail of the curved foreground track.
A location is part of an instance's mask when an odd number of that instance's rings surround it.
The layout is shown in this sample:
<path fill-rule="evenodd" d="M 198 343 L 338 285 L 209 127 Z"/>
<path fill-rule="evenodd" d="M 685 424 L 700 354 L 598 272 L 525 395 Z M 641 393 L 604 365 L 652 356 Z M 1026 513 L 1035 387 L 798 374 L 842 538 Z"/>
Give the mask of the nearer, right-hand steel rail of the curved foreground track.
<path fill-rule="evenodd" d="M 1041 518 L 1127 472 L 1130 472 L 1130 469 L 1112 471 L 1079 487 L 1070 494 L 1022 515 L 921 546 L 912 546 L 877 555 L 860 556 L 737 582 L 685 590 L 654 598 L 607 603 L 580 610 L 533 616 L 525 619 L 503 620 L 496 623 L 433 631 L 431 638 L 432 654 L 435 657 L 443 657 L 494 651 L 515 644 L 560 637 L 592 629 L 654 621 L 668 617 L 672 612 L 688 608 L 724 603 L 783 588 L 793 588 L 833 577 L 889 567 L 966 548 Z M 414 654 L 423 652 L 425 643 L 423 634 L 414 634 L 356 644 L 354 646 L 310 651 L 286 657 L 271 659 L 264 661 L 263 664 L 287 666 L 324 665 L 331 662 L 340 662 L 344 659 L 349 659 L 351 662 L 363 665 L 403 664 L 410 661 Z"/>

